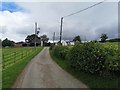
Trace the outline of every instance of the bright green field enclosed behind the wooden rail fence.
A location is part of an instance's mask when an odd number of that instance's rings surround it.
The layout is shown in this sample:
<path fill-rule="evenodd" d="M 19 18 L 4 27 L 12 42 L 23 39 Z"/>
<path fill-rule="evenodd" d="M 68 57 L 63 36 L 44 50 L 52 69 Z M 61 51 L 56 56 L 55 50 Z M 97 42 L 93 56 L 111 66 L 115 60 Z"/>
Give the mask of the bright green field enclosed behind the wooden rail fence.
<path fill-rule="evenodd" d="M 36 52 L 34 47 L 3 48 L 2 51 L 3 51 L 2 64 L 4 69 Z"/>

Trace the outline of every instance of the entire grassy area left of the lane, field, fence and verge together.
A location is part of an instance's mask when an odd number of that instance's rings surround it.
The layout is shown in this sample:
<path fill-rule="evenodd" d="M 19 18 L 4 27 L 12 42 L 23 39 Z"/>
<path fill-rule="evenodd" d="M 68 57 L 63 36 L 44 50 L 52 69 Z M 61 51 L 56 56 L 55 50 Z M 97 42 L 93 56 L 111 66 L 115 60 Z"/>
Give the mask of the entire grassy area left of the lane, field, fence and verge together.
<path fill-rule="evenodd" d="M 26 64 L 38 54 L 43 47 L 3 48 L 2 88 L 10 88 Z"/>

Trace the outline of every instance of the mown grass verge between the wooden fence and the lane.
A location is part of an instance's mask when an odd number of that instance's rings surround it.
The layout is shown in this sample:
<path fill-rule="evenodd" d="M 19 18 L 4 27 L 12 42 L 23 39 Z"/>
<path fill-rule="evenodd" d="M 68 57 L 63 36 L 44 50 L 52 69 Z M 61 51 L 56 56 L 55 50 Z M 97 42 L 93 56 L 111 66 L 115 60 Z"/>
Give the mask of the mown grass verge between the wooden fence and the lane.
<path fill-rule="evenodd" d="M 36 56 L 43 47 L 40 47 L 39 50 L 37 50 L 34 54 L 27 56 L 23 60 L 19 61 L 16 64 L 13 64 L 6 70 L 2 71 L 2 88 L 11 88 L 14 82 L 16 81 L 18 75 L 22 72 L 22 70 L 25 68 L 25 66 L 28 64 L 28 62 Z"/>

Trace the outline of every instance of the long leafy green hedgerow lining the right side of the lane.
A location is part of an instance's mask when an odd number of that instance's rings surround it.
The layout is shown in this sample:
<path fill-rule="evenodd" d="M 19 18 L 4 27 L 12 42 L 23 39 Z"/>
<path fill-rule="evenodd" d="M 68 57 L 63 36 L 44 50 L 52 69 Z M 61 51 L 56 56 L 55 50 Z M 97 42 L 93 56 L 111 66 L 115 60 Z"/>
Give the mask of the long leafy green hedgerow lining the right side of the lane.
<path fill-rule="evenodd" d="M 54 46 L 55 56 L 67 60 L 71 67 L 78 71 L 108 77 L 120 72 L 120 55 L 118 49 L 106 48 L 100 43 L 84 43 L 68 48 Z"/>

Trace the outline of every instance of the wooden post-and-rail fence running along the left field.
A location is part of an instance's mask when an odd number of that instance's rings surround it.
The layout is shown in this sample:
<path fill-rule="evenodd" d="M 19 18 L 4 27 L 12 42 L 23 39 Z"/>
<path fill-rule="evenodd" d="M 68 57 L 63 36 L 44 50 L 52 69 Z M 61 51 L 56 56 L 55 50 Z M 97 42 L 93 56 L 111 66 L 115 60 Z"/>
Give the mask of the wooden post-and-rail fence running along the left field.
<path fill-rule="evenodd" d="M 27 50 L 22 50 L 22 51 L 14 51 L 10 54 L 2 54 L 2 68 L 3 70 L 6 69 L 7 67 L 24 60 L 28 58 L 30 55 L 36 53 L 38 49 L 35 48 L 29 48 Z"/>

